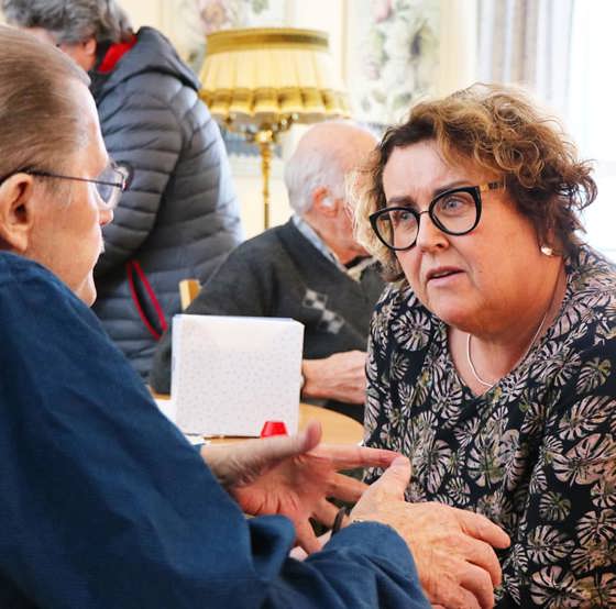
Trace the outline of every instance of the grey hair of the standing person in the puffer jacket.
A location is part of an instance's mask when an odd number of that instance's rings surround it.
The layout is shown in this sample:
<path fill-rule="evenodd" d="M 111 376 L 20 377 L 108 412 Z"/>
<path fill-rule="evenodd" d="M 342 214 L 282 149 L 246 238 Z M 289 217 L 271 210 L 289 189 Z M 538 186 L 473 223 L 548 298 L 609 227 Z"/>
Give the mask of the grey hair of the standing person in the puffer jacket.
<path fill-rule="evenodd" d="M 56 43 L 125 42 L 132 26 L 116 0 L 2 0 L 4 18 L 19 27 L 42 27 Z"/>

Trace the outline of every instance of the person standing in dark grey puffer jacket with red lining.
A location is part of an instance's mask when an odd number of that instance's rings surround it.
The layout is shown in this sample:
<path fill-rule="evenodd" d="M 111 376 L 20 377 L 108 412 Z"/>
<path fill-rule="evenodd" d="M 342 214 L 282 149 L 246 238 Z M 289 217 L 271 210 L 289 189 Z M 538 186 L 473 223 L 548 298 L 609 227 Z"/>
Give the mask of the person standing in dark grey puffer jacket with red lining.
<path fill-rule="evenodd" d="M 145 377 L 179 312 L 178 281 L 205 283 L 242 237 L 220 132 L 170 43 L 152 27 L 134 34 L 114 0 L 2 0 L 2 9 L 89 73 L 106 146 L 133 167 L 103 230 L 94 310 Z"/>

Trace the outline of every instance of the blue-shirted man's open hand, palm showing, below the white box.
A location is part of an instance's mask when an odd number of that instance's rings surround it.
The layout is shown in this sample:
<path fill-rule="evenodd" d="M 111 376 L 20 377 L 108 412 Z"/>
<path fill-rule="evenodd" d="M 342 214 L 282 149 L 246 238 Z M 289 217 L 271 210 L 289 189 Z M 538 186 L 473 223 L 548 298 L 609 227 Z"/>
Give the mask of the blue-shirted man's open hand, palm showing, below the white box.
<path fill-rule="evenodd" d="M 306 552 L 317 552 L 310 518 L 331 527 L 338 508 L 327 498 L 356 501 L 367 486 L 339 474 L 355 467 L 387 467 L 391 451 L 362 446 L 317 446 L 319 423 L 293 436 L 248 440 L 238 444 L 205 445 L 201 456 L 222 486 L 250 514 L 284 514 L 295 524 Z"/>

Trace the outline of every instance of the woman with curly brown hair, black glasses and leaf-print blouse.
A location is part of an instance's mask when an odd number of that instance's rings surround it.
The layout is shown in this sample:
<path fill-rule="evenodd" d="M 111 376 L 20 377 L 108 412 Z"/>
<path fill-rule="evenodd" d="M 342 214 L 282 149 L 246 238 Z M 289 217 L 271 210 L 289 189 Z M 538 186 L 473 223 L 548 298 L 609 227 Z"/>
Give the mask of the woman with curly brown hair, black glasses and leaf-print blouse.
<path fill-rule="evenodd" d="M 392 281 L 366 443 L 411 458 L 407 499 L 509 533 L 501 608 L 616 605 L 616 269 L 576 234 L 595 196 L 554 120 L 475 85 L 386 132 L 358 209 Z"/>

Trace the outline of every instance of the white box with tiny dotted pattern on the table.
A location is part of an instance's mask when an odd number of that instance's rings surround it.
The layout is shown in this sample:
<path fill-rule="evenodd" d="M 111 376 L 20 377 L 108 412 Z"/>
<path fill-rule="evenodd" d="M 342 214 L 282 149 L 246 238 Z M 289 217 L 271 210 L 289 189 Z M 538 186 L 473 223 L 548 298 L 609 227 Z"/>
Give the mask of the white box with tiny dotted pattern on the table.
<path fill-rule="evenodd" d="M 290 319 L 175 315 L 172 400 L 184 433 L 261 433 L 299 422 L 304 325 Z"/>

